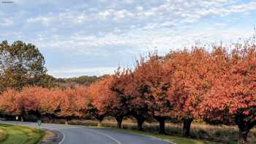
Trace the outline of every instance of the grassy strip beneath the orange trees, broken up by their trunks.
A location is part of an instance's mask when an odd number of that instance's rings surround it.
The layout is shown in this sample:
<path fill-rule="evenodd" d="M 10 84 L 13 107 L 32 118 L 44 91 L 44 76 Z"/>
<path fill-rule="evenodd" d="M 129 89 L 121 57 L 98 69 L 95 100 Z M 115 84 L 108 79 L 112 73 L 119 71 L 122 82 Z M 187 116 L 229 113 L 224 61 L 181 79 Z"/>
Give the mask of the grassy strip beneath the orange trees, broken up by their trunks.
<path fill-rule="evenodd" d="M 97 126 L 97 121 L 69 121 L 69 124 L 83 125 L 83 126 Z M 236 126 L 212 126 L 208 124 L 192 124 L 191 137 L 182 137 L 182 125 L 166 123 L 165 132 L 167 135 L 158 134 L 157 123 L 143 124 L 144 132 L 136 130 L 136 124 L 129 119 L 123 122 L 125 132 L 136 132 L 137 134 L 147 134 L 158 137 L 164 140 L 170 140 L 177 144 L 192 143 L 192 144 L 237 144 L 238 143 L 238 129 Z M 102 126 L 116 129 L 116 121 L 113 119 L 105 119 L 102 121 Z M 249 133 L 248 140 L 250 143 L 256 143 L 256 129 L 252 129 Z"/>

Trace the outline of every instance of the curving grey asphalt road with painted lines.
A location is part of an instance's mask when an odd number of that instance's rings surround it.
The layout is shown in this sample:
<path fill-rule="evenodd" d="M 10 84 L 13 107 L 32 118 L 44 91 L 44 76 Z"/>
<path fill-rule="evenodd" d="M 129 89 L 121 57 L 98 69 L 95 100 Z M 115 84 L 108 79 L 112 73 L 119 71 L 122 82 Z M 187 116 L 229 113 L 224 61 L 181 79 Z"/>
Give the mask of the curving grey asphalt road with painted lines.
<path fill-rule="evenodd" d="M 3 124 L 18 124 L 37 127 L 37 123 L 0 121 Z M 42 124 L 44 129 L 53 129 L 63 134 L 60 144 L 170 144 L 167 141 L 111 129 L 94 129 L 86 126 Z"/>

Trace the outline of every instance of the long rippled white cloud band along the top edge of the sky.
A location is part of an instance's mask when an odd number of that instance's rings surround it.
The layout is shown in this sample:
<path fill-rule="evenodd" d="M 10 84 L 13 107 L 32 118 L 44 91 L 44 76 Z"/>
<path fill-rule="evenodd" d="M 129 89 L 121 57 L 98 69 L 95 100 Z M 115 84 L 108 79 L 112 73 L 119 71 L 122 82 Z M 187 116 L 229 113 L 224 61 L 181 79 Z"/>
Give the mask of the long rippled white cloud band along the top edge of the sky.
<path fill-rule="evenodd" d="M 139 23 L 140 26 L 158 22 L 165 23 L 165 25 L 162 25 L 165 27 L 167 23 L 176 23 L 177 21 L 181 24 L 195 23 L 202 18 L 225 17 L 236 13 L 249 15 L 250 11 L 256 10 L 256 1 L 241 4 L 232 0 L 165 0 L 151 7 L 146 7 L 147 3 L 136 4 L 135 1 L 131 0 L 119 1 L 115 4 L 112 4 L 113 2 L 110 1 L 102 1 L 102 3 L 112 5 L 113 7 L 88 7 L 83 8 L 83 10 L 73 10 L 71 7 L 70 9 L 60 11 L 57 15 L 37 15 L 34 18 L 29 18 L 27 21 L 49 25 L 50 22 L 52 22 L 50 24 L 85 24 L 86 22 L 97 20 L 112 20 L 115 23 L 124 23 L 124 26 L 129 25 L 130 22 Z M 120 9 L 119 6 L 121 4 L 127 3 L 133 4 L 132 6 L 135 8 L 123 7 Z"/>

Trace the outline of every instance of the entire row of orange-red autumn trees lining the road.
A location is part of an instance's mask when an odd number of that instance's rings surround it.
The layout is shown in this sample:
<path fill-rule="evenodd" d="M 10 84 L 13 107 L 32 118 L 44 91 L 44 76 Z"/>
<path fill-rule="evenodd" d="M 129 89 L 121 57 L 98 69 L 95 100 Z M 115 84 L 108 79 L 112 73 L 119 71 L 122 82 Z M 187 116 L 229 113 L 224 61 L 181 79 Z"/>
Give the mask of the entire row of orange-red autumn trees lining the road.
<path fill-rule="evenodd" d="M 90 86 L 75 88 L 8 88 L 0 96 L 1 113 L 49 118 L 147 118 L 159 122 L 182 121 L 189 136 L 192 121 L 236 124 L 241 143 L 256 124 L 256 46 L 236 45 L 233 50 L 192 48 L 165 56 L 150 53 L 133 69 L 118 69 Z"/>

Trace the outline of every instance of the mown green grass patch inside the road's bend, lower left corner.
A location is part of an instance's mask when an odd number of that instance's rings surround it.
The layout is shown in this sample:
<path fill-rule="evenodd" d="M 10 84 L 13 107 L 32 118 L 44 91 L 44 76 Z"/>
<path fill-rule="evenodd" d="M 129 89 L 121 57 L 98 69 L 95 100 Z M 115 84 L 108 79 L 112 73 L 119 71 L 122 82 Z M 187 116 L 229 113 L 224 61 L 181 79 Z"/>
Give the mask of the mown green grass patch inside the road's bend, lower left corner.
<path fill-rule="evenodd" d="M 44 135 L 45 132 L 40 129 L 0 124 L 1 144 L 36 144 Z"/>

